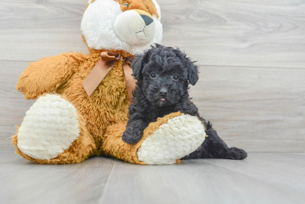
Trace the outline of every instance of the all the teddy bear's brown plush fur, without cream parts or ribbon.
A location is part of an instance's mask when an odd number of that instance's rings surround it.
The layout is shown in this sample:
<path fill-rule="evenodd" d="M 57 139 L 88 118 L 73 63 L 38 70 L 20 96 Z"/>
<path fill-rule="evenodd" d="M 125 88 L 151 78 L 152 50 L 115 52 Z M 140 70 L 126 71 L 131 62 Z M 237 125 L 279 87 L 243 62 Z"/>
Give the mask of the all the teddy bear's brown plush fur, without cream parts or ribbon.
<path fill-rule="evenodd" d="M 127 10 L 127 7 L 122 4 L 128 2 L 130 4 L 128 9 L 141 9 L 158 17 L 155 5 L 151 0 L 115 1 L 121 4 L 123 11 Z M 84 37 L 83 40 L 86 43 Z M 90 48 L 88 50 L 88 55 L 63 53 L 31 63 L 20 75 L 16 87 L 17 91 L 21 91 L 26 99 L 37 99 L 45 94 L 56 93 L 71 102 L 79 115 L 80 136 L 58 157 L 40 160 L 33 159 L 18 149 L 17 131 L 12 139 L 16 153 L 25 159 L 42 164 L 75 163 L 83 161 L 90 155 L 104 153 L 134 164 L 144 164 L 138 160 L 136 154 L 142 142 L 162 123 L 167 122 L 168 118 L 181 115 L 181 113 L 173 113 L 151 123 L 144 131 L 144 136 L 139 143 L 134 145 L 124 143 L 121 136 L 126 128 L 124 124 L 128 120 L 129 97 L 124 78 L 123 61 L 119 60 L 115 64 L 90 97 L 85 92 L 82 83 L 101 59 L 102 51 L 120 53 L 124 58 L 132 55 L 124 50 L 93 50 Z M 111 127 L 105 135 L 109 126 Z"/>

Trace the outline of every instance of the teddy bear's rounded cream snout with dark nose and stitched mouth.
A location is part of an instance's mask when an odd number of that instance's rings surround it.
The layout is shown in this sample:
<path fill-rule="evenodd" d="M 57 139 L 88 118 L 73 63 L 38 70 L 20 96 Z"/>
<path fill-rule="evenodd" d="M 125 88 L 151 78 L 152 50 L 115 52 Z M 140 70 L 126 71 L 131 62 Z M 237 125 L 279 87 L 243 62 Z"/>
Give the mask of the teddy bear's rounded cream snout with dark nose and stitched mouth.
<path fill-rule="evenodd" d="M 114 32 L 130 45 L 147 45 L 155 35 L 154 18 L 143 10 L 131 9 L 115 20 Z"/>

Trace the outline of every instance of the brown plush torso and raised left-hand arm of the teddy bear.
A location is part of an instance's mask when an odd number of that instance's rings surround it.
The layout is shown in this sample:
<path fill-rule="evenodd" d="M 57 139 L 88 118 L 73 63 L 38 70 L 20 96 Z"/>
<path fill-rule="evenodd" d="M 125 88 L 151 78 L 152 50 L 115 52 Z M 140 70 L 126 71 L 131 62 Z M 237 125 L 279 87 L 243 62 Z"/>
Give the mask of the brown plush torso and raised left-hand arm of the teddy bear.
<path fill-rule="evenodd" d="M 82 87 L 85 78 L 101 59 L 101 51 L 106 50 L 90 50 L 88 55 L 63 53 L 40 59 L 26 68 L 17 84 L 17 90 L 21 90 L 26 99 L 50 92 L 66 97 L 86 121 L 86 128 L 95 140 L 97 155 L 103 152 L 100 147 L 107 127 L 126 121 L 129 106 L 121 60 L 90 97 Z M 122 50 L 111 52 L 120 52 L 124 58 L 131 56 Z"/>

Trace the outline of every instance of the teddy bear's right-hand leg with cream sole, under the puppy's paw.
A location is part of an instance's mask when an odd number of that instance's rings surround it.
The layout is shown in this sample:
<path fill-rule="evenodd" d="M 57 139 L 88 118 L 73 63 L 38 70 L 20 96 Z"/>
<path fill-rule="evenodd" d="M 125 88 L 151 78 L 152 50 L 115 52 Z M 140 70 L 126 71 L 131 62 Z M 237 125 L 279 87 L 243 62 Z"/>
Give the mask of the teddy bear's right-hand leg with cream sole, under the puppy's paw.
<path fill-rule="evenodd" d="M 122 140 L 126 123 L 108 127 L 103 150 L 134 164 L 174 164 L 195 151 L 205 139 L 204 126 L 195 116 L 171 113 L 152 122 L 136 144 Z"/>

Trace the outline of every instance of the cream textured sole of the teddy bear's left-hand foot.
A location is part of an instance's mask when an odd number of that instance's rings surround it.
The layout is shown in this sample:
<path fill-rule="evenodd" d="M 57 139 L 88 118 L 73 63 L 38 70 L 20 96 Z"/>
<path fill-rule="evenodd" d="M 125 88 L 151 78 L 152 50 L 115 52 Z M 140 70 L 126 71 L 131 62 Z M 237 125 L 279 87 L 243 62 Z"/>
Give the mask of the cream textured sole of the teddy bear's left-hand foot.
<path fill-rule="evenodd" d="M 78 115 L 59 95 L 37 99 L 19 128 L 18 148 L 34 159 L 52 159 L 68 149 L 79 136 Z"/>

